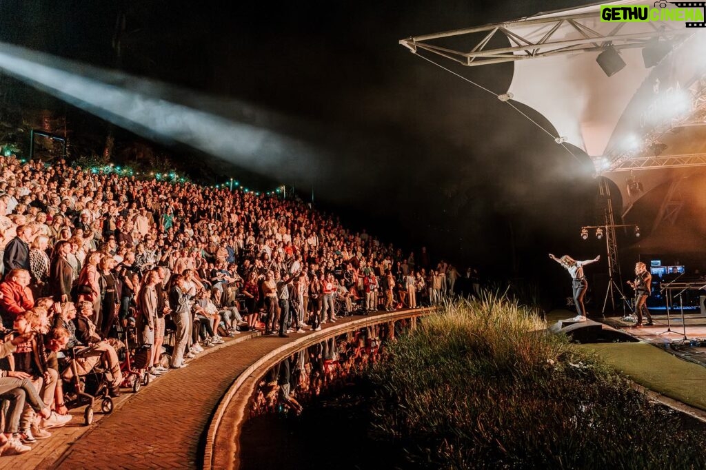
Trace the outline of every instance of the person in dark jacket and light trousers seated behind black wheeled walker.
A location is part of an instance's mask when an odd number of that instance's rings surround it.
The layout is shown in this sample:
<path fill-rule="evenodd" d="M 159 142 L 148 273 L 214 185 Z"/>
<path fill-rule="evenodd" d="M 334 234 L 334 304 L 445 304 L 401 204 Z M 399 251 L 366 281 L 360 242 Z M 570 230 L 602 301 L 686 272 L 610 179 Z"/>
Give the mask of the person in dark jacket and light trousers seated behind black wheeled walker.
<path fill-rule="evenodd" d="M 78 307 L 73 310 L 73 315 L 76 315 L 78 311 L 78 316 L 73 320 L 76 323 L 76 332 L 74 337 L 69 337 L 69 344 L 76 344 L 76 347 L 82 347 L 76 351 L 76 366 L 79 375 L 84 375 L 89 373 L 90 370 L 95 368 L 98 363 L 102 362 L 105 364 L 107 372 L 109 372 L 110 390 L 109 394 L 111 397 L 120 396 L 120 383 L 123 380 L 123 375 L 120 371 L 120 361 L 116 348 L 119 349 L 121 344 L 116 339 L 104 340 L 96 332 L 95 323 L 93 323 L 93 306 L 89 301 L 78 302 Z M 70 316 L 72 313 L 71 308 L 67 308 L 65 315 Z M 68 316 L 66 318 L 68 318 Z M 69 330 L 71 335 L 71 331 Z M 72 359 L 68 359 L 68 363 L 71 363 Z M 73 368 L 67 367 L 62 373 L 61 378 L 68 381 L 73 378 Z"/>

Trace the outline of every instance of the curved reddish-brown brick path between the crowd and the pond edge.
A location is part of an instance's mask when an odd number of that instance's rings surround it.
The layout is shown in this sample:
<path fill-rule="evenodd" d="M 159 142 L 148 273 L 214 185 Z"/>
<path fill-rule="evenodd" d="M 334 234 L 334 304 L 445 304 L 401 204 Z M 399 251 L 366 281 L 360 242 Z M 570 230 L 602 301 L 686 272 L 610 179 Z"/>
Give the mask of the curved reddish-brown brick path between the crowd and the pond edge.
<path fill-rule="evenodd" d="M 370 315 L 373 316 L 377 315 Z M 309 335 L 328 336 L 325 330 L 345 330 L 347 323 L 361 318 L 365 317 L 327 323 L 315 335 L 307 332 L 280 338 L 251 333 L 226 339 L 225 344 L 190 361 L 188 367 L 171 370 L 143 387 L 113 414 L 104 416 L 88 432 L 77 436 L 73 444 L 68 442 L 70 447 L 61 457 L 55 450 L 52 463 L 47 464 L 49 459 L 44 459 L 37 468 L 201 468 L 211 417 L 238 375 L 278 347 Z"/>

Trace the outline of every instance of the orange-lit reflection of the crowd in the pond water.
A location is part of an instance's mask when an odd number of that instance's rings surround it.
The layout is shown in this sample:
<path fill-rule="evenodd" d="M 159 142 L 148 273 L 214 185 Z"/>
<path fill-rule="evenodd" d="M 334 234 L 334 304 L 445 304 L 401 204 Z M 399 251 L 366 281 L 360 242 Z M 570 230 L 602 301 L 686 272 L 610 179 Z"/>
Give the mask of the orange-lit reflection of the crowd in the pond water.
<path fill-rule="evenodd" d="M 406 325 L 407 321 L 398 321 L 396 329 Z M 302 403 L 324 390 L 342 387 L 377 362 L 385 340 L 393 337 L 388 325 L 373 325 L 297 351 L 265 374 L 255 393 L 251 416 L 274 411 L 301 413 Z"/>

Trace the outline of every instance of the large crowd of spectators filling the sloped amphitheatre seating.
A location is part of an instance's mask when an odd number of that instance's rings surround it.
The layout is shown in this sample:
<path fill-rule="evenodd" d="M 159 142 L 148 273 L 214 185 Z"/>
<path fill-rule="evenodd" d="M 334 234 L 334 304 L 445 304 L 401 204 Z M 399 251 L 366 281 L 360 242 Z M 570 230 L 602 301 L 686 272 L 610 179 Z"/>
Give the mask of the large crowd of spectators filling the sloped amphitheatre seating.
<path fill-rule="evenodd" d="M 118 396 L 118 335 L 133 323 L 154 379 L 242 330 L 320 330 L 337 302 L 419 308 L 460 277 L 301 200 L 14 157 L 0 160 L 0 259 L 0 396 L 11 402 L 0 454 L 27 452 L 71 418 L 62 382 L 76 370 L 102 363 Z M 74 347 L 97 354 L 68 367 Z"/>

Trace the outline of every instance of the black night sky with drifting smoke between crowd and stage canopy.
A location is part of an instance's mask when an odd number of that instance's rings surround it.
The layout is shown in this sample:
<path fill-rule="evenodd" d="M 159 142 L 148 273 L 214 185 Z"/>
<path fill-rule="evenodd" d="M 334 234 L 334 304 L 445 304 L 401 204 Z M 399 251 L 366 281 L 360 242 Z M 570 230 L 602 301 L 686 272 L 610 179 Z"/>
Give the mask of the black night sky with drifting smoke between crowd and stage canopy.
<path fill-rule="evenodd" d="M 0 40 L 212 95 L 203 109 L 225 117 L 242 113 L 233 102 L 251 104 L 256 122 L 317 152 L 305 174 L 273 183 L 313 190 L 320 207 L 405 251 L 426 245 L 460 269 L 551 284 L 565 279 L 548 251 L 604 253 L 578 236 L 596 222 L 587 159 L 397 41 L 587 3 L 3 1 Z M 512 77 L 508 64 L 453 69 L 498 92 Z M 223 176 L 246 182 L 247 171 Z M 269 189 L 268 176 L 251 186 Z"/>

